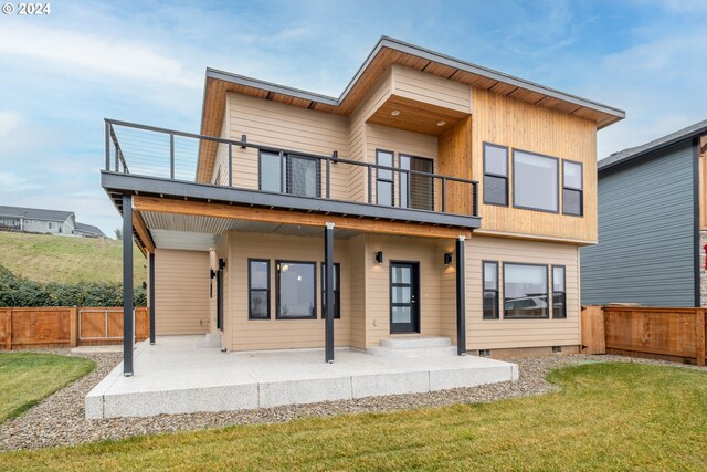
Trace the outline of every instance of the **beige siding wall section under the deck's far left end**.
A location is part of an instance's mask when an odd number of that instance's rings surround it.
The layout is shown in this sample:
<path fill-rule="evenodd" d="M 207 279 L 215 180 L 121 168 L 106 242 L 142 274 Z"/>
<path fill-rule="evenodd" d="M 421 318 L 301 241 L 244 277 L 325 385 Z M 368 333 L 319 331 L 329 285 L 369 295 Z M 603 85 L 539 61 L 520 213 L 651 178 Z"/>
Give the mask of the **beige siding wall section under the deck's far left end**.
<path fill-rule="evenodd" d="M 155 251 L 155 333 L 158 336 L 209 331 L 209 253 Z"/>

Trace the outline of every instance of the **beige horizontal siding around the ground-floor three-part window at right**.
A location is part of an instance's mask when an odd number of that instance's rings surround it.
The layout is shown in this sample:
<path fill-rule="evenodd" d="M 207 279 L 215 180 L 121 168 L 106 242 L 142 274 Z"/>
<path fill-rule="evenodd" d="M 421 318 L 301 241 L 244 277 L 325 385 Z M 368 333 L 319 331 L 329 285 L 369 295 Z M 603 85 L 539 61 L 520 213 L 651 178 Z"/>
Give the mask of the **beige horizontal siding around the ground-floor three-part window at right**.
<path fill-rule="evenodd" d="M 468 349 L 497 349 L 580 344 L 578 247 L 473 237 L 466 243 L 466 338 Z M 503 262 L 566 266 L 567 319 L 483 319 L 482 261 L 499 262 L 499 297 L 504 300 Z M 550 286 L 548 268 L 548 286 Z"/>

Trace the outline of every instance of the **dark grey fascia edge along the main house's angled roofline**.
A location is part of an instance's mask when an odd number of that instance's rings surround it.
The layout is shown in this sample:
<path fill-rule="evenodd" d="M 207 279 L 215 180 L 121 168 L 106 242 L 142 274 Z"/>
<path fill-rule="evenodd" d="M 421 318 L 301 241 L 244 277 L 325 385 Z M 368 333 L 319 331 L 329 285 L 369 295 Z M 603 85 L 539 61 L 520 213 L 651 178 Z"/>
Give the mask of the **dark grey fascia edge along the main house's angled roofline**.
<path fill-rule="evenodd" d="M 394 51 L 399 51 L 405 54 L 415 55 L 418 57 L 425 59 L 428 61 L 434 61 L 440 64 L 447 65 L 450 67 L 463 70 L 465 72 L 469 72 L 473 74 L 482 75 L 484 77 L 495 80 L 498 82 L 504 82 L 520 88 L 530 90 L 532 92 L 544 94 L 557 99 L 561 99 L 563 102 L 569 102 L 578 106 L 588 107 L 594 109 L 597 112 L 605 113 L 608 115 L 615 116 L 619 119 L 624 119 L 626 114 L 624 111 L 614 108 L 609 105 L 604 105 L 598 102 L 593 102 L 587 98 L 579 97 L 577 95 L 571 95 L 564 92 L 560 92 L 555 88 L 550 88 L 535 82 L 530 82 L 524 78 L 515 77 L 513 75 L 504 74 L 503 72 L 494 71 L 490 69 L 486 69 L 476 64 L 472 64 L 469 62 L 461 61 L 458 59 L 451 57 L 445 54 L 441 54 L 429 49 L 424 49 L 414 44 L 410 44 L 400 40 L 395 40 L 389 36 L 381 36 L 373 50 L 366 57 L 363 64 L 358 69 L 354 78 L 348 83 L 344 92 L 338 98 L 330 97 L 327 95 L 317 94 L 314 92 L 304 91 L 300 88 L 289 87 L 286 85 L 279 85 L 272 82 L 261 81 L 258 78 L 247 77 L 244 75 L 233 74 L 230 72 L 220 71 L 217 69 L 207 67 L 205 80 L 215 78 L 225 82 L 235 83 L 239 85 L 251 86 L 255 88 L 265 90 L 273 93 L 281 93 L 284 95 L 295 96 L 297 98 L 309 99 L 313 102 L 323 103 L 331 106 L 340 106 L 340 104 L 346 99 L 349 92 L 356 83 L 359 81 L 361 75 L 368 69 L 368 65 L 373 61 L 373 57 L 380 52 L 381 49 L 388 48 Z M 202 125 L 203 125 L 203 105 L 205 105 L 205 84 L 204 84 L 204 102 L 202 104 Z"/>

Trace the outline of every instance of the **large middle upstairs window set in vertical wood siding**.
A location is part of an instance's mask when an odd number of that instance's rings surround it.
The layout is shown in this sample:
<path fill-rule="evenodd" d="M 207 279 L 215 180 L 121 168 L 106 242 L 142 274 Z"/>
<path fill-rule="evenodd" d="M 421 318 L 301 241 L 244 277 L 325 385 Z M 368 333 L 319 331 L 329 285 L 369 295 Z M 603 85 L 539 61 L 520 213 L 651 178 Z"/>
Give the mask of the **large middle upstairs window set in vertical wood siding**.
<path fill-rule="evenodd" d="M 530 210 L 559 211 L 559 174 L 556 157 L 513 151 L 513 204 Z"/>

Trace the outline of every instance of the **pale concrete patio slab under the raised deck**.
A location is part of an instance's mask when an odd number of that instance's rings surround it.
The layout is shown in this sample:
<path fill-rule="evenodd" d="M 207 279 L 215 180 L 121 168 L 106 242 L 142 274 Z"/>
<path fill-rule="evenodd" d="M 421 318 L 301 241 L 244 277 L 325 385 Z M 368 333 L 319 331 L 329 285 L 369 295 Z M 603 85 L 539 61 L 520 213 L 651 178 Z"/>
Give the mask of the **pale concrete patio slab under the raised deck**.
<path fill-rule="evenodd" d="M 86 396 L 86 418 L 230 411 L 426 392 L 517 380 L 515 364 L 476 356 L 379 357 L 336 349 L 222 353 L 201 336 L 158 337 L 135 350 L 135 375 L 118 365 Z"/>

